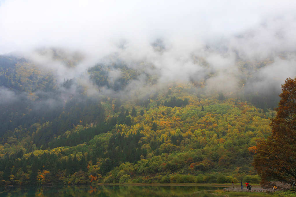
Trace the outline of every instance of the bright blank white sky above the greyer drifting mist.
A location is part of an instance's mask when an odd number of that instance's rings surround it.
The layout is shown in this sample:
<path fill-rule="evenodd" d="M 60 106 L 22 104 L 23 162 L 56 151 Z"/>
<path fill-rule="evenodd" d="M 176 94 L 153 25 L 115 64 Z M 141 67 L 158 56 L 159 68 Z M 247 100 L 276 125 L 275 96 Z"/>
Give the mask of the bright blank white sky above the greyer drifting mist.
<path fill-rule="evenodd" d="M 155 38 L 192 47 L 208 39 L 243 33 L 266 20 L 295 22 L 295 13 L 296 1 L 292 0 L 4 0 L 0 6 L 0 53 L 40 46 L 107 53 L 116 50 L 112 47 L 123 39 L 139 49 Z M 295 29 L 290 30 L 295 34 Z"/>

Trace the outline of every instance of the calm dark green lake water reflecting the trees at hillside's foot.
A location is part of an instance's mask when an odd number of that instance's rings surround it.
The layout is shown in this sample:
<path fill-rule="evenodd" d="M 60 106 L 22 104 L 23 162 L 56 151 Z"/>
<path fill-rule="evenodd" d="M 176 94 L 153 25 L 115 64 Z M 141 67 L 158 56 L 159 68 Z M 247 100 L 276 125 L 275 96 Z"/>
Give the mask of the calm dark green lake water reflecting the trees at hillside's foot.
<path fill-rule="evenodd" d="M 69 186 L 69 187 L 39 187 L 39 188 L 0 188 L 0 197 L 139 197 L 139 196 L 201 196 L 219 197 L 210 190 L 223 187 L 196 186 Z"/>

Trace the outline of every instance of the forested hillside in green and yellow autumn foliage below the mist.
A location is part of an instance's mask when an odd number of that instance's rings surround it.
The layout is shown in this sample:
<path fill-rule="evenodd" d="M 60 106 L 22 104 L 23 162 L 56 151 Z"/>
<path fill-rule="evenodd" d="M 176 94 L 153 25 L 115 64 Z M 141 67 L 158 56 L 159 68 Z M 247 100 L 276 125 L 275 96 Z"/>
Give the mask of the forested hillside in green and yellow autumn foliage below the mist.
<path fill-rule="evenodd" d="M 2 185 L 259 183 L 256 140 L 271 134 L 278 98 L 245 91 L 252 76 L 233 93 L 194 80 L 159 88 L 156 71 L 118 62 L 87 73 L 97 92 L 124 91 L 143 76 L 155 91 L 91 96 L 79 78 L 59 83 L 26 59 L 0 56 Z"/>

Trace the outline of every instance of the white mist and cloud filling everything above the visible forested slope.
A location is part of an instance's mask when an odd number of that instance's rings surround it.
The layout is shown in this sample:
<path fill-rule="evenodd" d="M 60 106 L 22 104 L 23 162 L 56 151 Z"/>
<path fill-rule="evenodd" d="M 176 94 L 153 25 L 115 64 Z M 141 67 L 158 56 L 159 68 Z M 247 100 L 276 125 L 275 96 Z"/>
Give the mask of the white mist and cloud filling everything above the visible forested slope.
<path fill-rule="evenodd" d="M 280 88 L 295 77 L 296 1 L 40 1 L 4 0 L 0 5 L 0 54 L 15 52 L 56 70 L 59 80 L 80 77 L 114 56 L 129 67 L 160 76 L 159 82 L 206 80 L 207 87 L 237 90 L 247 78 L 237 65 L 272 58 L 252 73 L 260 81 L 250 87 Z M 66 67 L 40 48 L 66 49 L 83 60 Z M 279 54 L 284 53 L 284 58 Z M 206 65 L 204 62 L 207 62 Z M 250 68 L 247 68 L 250 69 Z M 212 77 L 205 77 L 215 73 Z M 120 76 L 112 70 L 110 77 Z M 127 91 L 144 85 L 145 76 Z M 250 84 L 249 82 L 248 84 Z"/>

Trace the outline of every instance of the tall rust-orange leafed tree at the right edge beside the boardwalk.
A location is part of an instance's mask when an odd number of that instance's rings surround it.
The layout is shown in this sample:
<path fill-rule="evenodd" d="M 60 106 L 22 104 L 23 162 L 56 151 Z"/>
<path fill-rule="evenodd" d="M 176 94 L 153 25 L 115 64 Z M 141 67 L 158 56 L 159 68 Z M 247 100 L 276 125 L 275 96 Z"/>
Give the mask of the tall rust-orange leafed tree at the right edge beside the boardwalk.
<path fill-rule="evenodd" d="M 271 188 L 282 182 L 282 189 L 296 193 L 296 77 L 286 79 L 277 115 L 271 121 L 272 134 L 257 142 L 254 167 L 261 185 Z"/>

